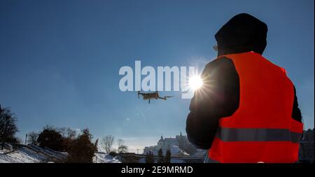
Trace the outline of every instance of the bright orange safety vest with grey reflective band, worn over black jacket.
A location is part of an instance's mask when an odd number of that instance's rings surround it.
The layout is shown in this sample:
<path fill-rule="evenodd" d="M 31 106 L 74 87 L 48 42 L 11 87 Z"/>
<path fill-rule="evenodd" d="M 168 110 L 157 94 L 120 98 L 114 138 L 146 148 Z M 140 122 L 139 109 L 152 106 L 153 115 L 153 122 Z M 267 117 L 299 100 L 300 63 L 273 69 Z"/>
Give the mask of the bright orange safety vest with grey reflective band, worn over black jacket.
<path fill-rule="evenodd" d="M 303 124 L 291 117 L 294 88 L 286 71 L 255 52 L 221 57 L 232 59 L 239 75 L 239 108 L 219 120 L 209 158 L 227 163 L 297 162 Z"/>

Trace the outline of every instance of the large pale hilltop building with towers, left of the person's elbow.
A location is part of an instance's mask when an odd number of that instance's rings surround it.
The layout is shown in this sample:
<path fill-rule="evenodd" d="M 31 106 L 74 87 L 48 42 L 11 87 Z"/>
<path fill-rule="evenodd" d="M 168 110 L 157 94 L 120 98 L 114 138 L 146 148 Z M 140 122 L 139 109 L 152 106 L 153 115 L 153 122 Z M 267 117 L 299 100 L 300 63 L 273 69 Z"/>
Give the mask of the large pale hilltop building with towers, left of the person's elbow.
<path fill-rule="evenodd" d="M 163 150 L 164 155 L 167 150 L 170 150 L 172 157 L 187 157 L 197 152 L 197 148 L 188 141 L 187 136 L 180 133 L 175 138 L 164 138 L 161 136 L 158 144 L 156 146 L 145 147 L 143 154 L 146 155 L 146 153 L 151 152 L 153 155 L 158 155 L 158 150 L 160 149 Z"/>

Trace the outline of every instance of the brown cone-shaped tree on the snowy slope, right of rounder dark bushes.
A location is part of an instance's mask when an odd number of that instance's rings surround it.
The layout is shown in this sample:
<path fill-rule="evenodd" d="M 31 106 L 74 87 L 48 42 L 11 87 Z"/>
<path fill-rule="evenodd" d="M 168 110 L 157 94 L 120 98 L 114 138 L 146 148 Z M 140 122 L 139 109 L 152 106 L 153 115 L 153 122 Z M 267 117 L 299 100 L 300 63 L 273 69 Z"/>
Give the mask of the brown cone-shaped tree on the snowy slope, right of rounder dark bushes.
<path fill-rule="evenodd" d="M 71 143 L 69 155 L 66 162 L 69 163 L 92 163 L 94 153 L 97 150 L 92 143 L 92 134 L 89 129 L 83 129 L 83 132 L 76 140 Z"/>

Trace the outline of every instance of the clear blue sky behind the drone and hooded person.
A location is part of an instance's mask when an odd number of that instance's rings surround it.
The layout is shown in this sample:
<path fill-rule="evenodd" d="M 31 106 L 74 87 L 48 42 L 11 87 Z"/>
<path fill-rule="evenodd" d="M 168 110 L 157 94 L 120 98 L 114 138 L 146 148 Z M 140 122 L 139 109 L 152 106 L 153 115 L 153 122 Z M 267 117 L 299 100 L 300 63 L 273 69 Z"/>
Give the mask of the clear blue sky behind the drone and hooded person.
<path fill-rule="evenodd" d="M 185 132 L 190 100 L 148 104 L 120 92 L 121 66 L 202 66 L 214 34 L 237 13 L 269 28 L 264 56 L 295 83 L 314 127 L 314 1 L 1 1 L 0 104 L 19 136 L 44 125 L 113 134 L 134 151 Z"/>

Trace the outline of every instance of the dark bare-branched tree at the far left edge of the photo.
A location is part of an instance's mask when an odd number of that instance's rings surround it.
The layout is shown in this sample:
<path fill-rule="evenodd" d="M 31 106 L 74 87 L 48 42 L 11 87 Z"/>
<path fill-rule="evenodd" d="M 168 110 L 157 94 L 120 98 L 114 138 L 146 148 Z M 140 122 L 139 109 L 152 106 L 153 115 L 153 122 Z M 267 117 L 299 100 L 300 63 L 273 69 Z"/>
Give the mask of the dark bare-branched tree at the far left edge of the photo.
<path fill-rule="evenodd" d="M 4 143 L 14 143 L 15 133 L 18 132 L 16 126 L 15 115 L 10 111 L 9 108 L 1 108 L 0 106 L 0 143 L 1 150 L 3 150 Z"/>

